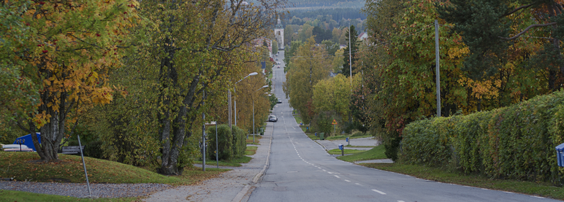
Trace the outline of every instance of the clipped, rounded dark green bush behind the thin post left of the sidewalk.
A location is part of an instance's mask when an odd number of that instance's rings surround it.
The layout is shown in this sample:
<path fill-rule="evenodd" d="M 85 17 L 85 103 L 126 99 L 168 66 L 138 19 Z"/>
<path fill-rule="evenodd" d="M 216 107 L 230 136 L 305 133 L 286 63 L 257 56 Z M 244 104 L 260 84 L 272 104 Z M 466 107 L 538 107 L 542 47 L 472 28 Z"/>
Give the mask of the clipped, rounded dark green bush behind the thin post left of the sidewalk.
<path fill-rule="evenodd" d="M 207 157 L 215 159 L 216 139 L 215 127 L 207 127 Z M 217 146 L 219 160 L 232 160 L 233 159 L 233 134 L 228 125 L 217 126 Z"/>

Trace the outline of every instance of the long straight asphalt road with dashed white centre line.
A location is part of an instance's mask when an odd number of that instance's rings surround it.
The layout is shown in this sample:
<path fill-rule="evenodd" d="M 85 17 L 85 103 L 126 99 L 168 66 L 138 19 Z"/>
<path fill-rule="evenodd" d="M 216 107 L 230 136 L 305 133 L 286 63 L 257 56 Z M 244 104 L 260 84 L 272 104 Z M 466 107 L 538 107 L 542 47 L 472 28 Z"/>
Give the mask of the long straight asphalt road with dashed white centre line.
<path fill-rule="evenodd" d="M 273 114 L 270 165 L 249 201 L 557 201 L 538 196 L 451 185 L 358 166 L 330 157 L 297 126 L 275 68 L 274 93 L 282 98 Z"/>

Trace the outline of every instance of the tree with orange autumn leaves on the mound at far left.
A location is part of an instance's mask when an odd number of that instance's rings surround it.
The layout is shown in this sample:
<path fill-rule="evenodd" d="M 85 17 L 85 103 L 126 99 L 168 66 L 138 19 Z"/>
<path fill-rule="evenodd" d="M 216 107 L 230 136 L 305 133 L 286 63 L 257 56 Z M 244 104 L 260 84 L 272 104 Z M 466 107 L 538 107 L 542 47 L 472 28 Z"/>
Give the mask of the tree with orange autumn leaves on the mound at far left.
<path fill-rule="evenodd" d="M 22 1 L 4 2 L 15 6 Z M 136 21 L 135 1 L 39 1 L 24 10 L 29 39 L 14 49 L 20 75 L 38 89 L 34 111 L 17 114 L 17 125 L 32 135 L 42 161 L 58 160 L 67 123 L 93 104 L 107 104 L 107 72 L 120 67 L 127 35 Z M 17 37 L 19 38 L 19 36 Z M 72 130 L 71 130 L 72 131 Z"/>

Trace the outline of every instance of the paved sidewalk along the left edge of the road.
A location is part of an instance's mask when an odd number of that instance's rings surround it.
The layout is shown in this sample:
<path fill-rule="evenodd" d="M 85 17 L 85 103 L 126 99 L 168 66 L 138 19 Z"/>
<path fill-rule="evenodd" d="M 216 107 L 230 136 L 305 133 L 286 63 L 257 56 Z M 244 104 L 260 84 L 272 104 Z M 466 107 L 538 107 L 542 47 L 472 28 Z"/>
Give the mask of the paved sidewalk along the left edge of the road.
<path fill-rule="evenodd" d="M 253 185 L 263 176 L 268 166 L 272 141 L 272 123 L 267 123 L 265 135 L 260 139 L 253 160 L 241 167 L 231 167 L 233 171 L 222 173 L 197 185 L 179 186 L 151 194 L 143 201 L 245 201 Z M 216 166 L 206 165 L 206 168 Z M 221 166 L 220 166 L 221 167 Z"/>

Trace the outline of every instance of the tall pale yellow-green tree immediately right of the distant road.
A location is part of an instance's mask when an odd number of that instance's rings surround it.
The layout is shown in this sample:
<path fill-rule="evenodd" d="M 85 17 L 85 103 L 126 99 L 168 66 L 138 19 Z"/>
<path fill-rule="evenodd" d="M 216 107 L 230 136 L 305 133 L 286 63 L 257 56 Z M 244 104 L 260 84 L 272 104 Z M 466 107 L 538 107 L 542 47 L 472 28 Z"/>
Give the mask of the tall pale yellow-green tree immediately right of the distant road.
<path fill-rule="evenodd" d="M 290 63 L 292 68 L 286 74 L 286 96 L 290 95 L 290 104 L 299 111 L 304 123 L 309 123 L 315 115 L 312 102 L 313 86 L 329 77 L 329 61 L 327 51 L 315 47 L 313 37 L 299 47 Z M 289 88 L 288 88 L 289 86 Z"/>

